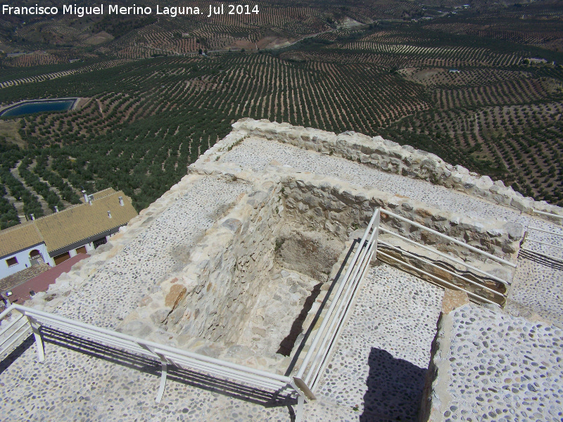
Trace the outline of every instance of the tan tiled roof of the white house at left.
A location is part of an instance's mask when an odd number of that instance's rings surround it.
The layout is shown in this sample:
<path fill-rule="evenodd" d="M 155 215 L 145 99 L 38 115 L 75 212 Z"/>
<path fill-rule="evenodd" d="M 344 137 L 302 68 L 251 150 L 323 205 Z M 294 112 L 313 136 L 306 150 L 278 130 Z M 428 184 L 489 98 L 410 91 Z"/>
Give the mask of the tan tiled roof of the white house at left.
<path fill-rule="evenodd" d="M 120 196 L 123 197 L 123 206 L 119 203 Z M 108 211 L 111 213 L 111 218 L 108 217 Z M 45 242 L 47 250 L 52 252 L 127 224 L 136 215 L 137 211 L 131 203 L 131 198 L 125 196 L 122 191 L 105 189 L 94 194 L 91 205 L 89 203 L 75 205 L 61 212 L 0 231 L 0 256 L 42 242 Z"/>

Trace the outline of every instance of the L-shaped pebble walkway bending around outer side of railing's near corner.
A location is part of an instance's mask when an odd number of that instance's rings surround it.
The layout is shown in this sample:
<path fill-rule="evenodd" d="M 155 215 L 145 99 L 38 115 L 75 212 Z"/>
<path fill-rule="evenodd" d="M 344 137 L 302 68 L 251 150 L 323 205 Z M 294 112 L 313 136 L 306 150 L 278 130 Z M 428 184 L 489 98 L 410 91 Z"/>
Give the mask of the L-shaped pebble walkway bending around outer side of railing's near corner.
<path fill-rule="evenodd" d="M 319 399 L 305 404 L 304 420 L 415 421 L 442 295 L 386 264 L 372 269 L 320 382 Z M 44 364 L 36 362 L 31 340 L 18 349 L 20 356 L 0 363 L 2 421 L 292 420 L 294 406 L 270 407 L 197 388 L 174 380 L 173 372 L 157 404 L 156 362 L 99 346 L 84 354 L 51 343 L 60 341 L 56 336 L 47 338 Z"/>

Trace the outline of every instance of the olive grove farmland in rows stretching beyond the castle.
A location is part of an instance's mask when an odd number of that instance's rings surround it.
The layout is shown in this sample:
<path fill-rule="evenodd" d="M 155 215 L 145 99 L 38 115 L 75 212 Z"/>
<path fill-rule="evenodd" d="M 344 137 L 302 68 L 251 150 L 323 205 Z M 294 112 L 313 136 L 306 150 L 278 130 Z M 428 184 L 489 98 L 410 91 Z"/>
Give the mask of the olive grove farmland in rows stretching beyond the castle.
<path fill-rule="evenodd" d="M 1 122 L 1 227 L 77 203 L 82 189 L 123 190 L 141 210 L 241 117 L 381 135 L 563 205 L 563 8 L 511 6 L 497 22 L 500 11 L 484 2 L 466 15 L 403 2 L 328 13 L 315 2 L 259 5 L 253 22 L 144 18 L 121 33 L 107 19 L 60 20 L 16 30 L 20 45 L 43 42 L 45 53 L 2 59 L 1 104 L 82 101 Z M 521 9 L 528 26 L 515 22 Z M 74 44 L 37 37 L 55 30 Z"/>

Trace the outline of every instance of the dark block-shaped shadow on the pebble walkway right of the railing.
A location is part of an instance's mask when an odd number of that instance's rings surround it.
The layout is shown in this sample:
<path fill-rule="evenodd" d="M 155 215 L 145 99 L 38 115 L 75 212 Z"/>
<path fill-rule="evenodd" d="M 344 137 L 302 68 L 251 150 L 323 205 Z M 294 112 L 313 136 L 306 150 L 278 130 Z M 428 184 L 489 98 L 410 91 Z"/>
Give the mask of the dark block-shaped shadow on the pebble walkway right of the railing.
<path fill-rule="evenodd" d="M 417 421 L 426 369 L 372 347 L 360 422 Z"/>

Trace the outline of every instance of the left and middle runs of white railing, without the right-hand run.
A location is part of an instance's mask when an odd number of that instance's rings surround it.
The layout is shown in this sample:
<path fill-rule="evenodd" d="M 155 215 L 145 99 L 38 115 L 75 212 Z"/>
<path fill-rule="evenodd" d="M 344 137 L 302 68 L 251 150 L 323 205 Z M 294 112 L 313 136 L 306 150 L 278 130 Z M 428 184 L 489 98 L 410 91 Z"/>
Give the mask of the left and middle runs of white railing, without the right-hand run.
<path fill-rule="evenodd" d="M 374 226 L 376 221 L 377 224 Z M 234 364 L 233 362 L 223 361 L 221 359 L 204 356 L 194 352 L 187 352 L 186 350 L 179 350 L 167 345 L 160 345 L 132 335 L 111 331 L 107 328 L 92 326 L 80 321 L 73 321 L 63 316 L 38 311 L 37 309 L 24 307 L 23 305 L 11 305 L 5 312 L 0 314 L 0 319 L 14 310 L 22 314 L 18 321 L 23 318 L 23 326 L 27 326 L 27 324 L 29 324 L 32 328 L 32 332 L 35 336 L 39 362 L 43 362 L 45 359 L 43 340 L 39 333 L 40 324 L 59 328 L 68 333 L 80 335 L 100 343 L 105 343 L 106 345 L 120 347 L 129 352 L 144 354 L 160 360 L 162 371 L 160 376 L 160 387 L 156 396 L 157 402 L 160 402 L 164 394 L 167 379 L 167 364 L 173 364 L 175 366 L 190 366 L 198 371 L 205 371 L 215 376 L 232 378 L 243 383 L 257 385 L 260 388 L 281 390 L 283 388 L 290 387 L 297 394 L 298 407 L 296 409 L 296 421 L 299 422 L 303 419 L 303 404 L 305 402 L 305 397 L 307 399 L 315 399 L 315 395 L 311 391 L 312 389 L 308 387 L 308 382 L 312 379 L 312 381 L 316 383 L 321 369 L 327 364 L 327 357 L 333 350 L 334 345 L 336 345 L 336 338 L 338 338 L 338 335 L 341 333 L 344 326 L 343 321 L 346 321 L 346 316 L 351 309 L 350 305 L 353 302 L 356 293 L 358 293 L 358 285 L 369 268 L 369 262 L 372 260 L 374 252 L 377 250 L 378 227 L 379 209 L 375 210 L 374 215 L 369 222 L 365 234 L 362 237 L 362 241 L 360 241 L 360 244 L 358 245 L 358 250 L 356 250 L 353 260 L 350 262 L 348 267 L 348 271 L 346 271 L 346 275 L 344 276 L 343 281 L 334 296 L 331 307 L 329 307 L 327 318 L 323 321 L 319 333 L 317 333 L 315 339 L 313 340 L 313 344 L 308 352 L 308 357 L 305 357 L 305 361 L 301 365 L 301 369 L 298 371 L 296 376 L 282 376 L 277 373 L 248 368 L 246 366 Z M 370 233 L 371 236 L 369 236 Z M 368 236 L 369 240 L 367 239 Z M 346 291 L 343 293 L 345 288 Z M 336 309 L 336 313 L 334 313 L 334 309 L 337 304 L 339 307 Z M 333 316 L 333 318 L 331 318 L 331 316 Z M 312 352 L 321 340 L 320 333 L 324 331 L 324 328 L 327 328 L 329 321 L 331 321 L 329 332 L 331 332 L 332 335 L 322 339 L 322 345 L 315 355 L 314 364 L 308 372 L 308 381 L 303 381 L 301 378 L 306 366 L 310 362 Z M 4 327 L 4 329 L 0 332 L 0 335 L 7 332 L 16 323 L 17 321 L 11 321 L 11 323 Z M 336 327 L 336 330 L 334 330 L 336 324 L 338 324 L 338 326 Z M 327 340 L 330 340 L 328 347 L 326 347 Z M 4 345 L 4 343 L 4 341 L 0 340 L 0 348 Z"/>

